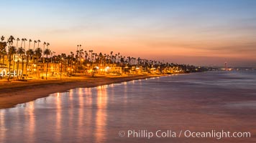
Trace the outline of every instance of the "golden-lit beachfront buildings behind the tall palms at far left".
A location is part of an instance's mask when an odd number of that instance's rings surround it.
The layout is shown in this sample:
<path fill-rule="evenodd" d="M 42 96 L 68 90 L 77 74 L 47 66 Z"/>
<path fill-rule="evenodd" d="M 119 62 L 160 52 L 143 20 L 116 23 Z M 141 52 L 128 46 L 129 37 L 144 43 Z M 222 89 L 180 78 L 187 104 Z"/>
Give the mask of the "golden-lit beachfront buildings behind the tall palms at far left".
<path fill-rule="evenodd" d="M 1 79 L 45 79 L 46 77 L 58 78 L 68 75 L 68 66 L 61 62 L 40 62 L 14 54 L 9 62 L 9 56 L 1 56 Z M 10 74 L 10 76 L 9 76 Z"/>

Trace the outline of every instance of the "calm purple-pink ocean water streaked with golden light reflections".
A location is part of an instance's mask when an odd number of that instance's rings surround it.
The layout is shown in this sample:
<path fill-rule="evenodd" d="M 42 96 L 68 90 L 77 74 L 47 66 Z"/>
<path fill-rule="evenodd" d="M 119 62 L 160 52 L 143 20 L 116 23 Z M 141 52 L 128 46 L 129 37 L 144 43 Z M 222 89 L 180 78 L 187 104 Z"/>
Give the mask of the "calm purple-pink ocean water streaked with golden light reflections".
<path fill-rule="evenodd" d="M 127 129 L 229 129 L 256 134 L 255 79 L 255 73 L 209 72 L 70 89 L 0 109 L 0 142 L 215 141 L 119 137 L 118 132 Z M 235 142 L 255 142 L 255 137 Z"/>

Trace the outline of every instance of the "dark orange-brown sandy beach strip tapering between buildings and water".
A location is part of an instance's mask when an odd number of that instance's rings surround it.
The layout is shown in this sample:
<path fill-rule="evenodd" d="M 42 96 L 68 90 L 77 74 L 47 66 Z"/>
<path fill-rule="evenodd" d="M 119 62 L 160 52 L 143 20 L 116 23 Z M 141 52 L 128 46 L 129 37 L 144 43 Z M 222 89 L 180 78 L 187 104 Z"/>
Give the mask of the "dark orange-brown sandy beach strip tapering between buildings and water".
<path fill-rule="evenodd" d="M 65 79 L 29 80 L 27 82 L 0 83 L 0 109 L 12 108 L 17 104 L 48 97 L 56 92 L 67 92 L 69 89 L 97 87 L 105 84 L 129 82 L 132 80 L 161 77 L 164 74 L 135 75 L 127 77 L 99 76 L 99 77 L 70 77 Z"/>

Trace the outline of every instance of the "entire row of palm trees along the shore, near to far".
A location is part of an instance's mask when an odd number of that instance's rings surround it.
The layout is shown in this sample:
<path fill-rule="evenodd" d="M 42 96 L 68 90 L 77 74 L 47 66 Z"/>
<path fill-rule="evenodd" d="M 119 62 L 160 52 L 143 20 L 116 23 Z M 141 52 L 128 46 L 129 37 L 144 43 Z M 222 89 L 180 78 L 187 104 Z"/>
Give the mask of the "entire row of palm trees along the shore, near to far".
<path fill-rule="evenodd" d="M 14 41 L 16 41 L 16 46 L 14 46 Z M 28 48 L 26 49 L 26 42 L 28 43 Z M 20 43 L 19 43 L 20 42 Z M 33 42 L 33 43 L 32 43 Z M 1 36 L 0 41 L 0 61 L 2 60 L 2 65 L 4 65 L 4 56 L 7 55 L 9 59 L 9 72 L 11 70 L 11 62 L 15 60 L 12 59 L 14 54 L 19 54 L 22 58 L 22 74 L 18 79 L 22 78 L 24 71 L 24 64 L 27 65 L 29 61 L 33 64 L 47 62 L 46 68 L 46 79 L 48 64 L 51 63 L 62 63 L 67 66 L 64 69 L 74 69 L 73 72 L 83 72 L 86 69 L 93 69 L 94 66 L 122 66 L 126 68 L 140 67 L 143 71 L 150 71 L 150 69 L 155 68 L 158 71 L 166 71 L 166 69 L 175 69 L 180 72 L 190 72 L 196 71 L 196 66 L 186 65 L 186 64 L 173 64 L 164 63 L 162 61 L 155 61 L 151 59 L 141 59 L 140 57 L 135 58 L 132 56 L 122 56 L 119 52 L 114 54 L 111 51 L 109 54 L 102 54 L 101 52 L 96 53 L 93 50 L 83 50 L 82 45 L 78 44 L 76 47 L 76 52 L 70 51 L 70 54 L 58 54 L 55 55 L 54 51 L 50 51 L 49 43 L 43 42 L 42 49 L 40 48 L 40 40 L 32 41 L 32 39 L 27 40 L 26 38 L 15 39 L 14 36 L 9 36 L 5 41 L 5 37 Z M 31 45 L 33 46 L 31 47 Z M 46 56 L 46 57 L 45 57 Z M 50 58 L 48 57 L 50 56 Z M 26 63 L 24 63 L 26 61 Z M 19 60 L 16 62 L 20 62 Z M 19 66 L 19 64 L 18 64 Z M 19 69 L 19 67 L 17 67 Z M 27 74 L 26 74 L 27 76 Z M 10 74 L 8 79 L 10 78 Z"/>

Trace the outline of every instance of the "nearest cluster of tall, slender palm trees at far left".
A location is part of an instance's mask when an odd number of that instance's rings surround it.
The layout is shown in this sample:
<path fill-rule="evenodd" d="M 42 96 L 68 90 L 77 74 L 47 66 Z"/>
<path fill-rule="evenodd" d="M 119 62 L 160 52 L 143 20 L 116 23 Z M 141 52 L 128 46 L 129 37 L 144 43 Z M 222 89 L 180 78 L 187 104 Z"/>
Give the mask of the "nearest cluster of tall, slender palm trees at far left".
<path fill-rule="evenodd" d="M 14 41 L 16 41 L 16 46 L 14 46 Z M 21 41 L 20 45 L 19 45 L 19 41 Z M 22 58 L 22 74 L 19 76 L 17 76 L 17 78 L 22 78 L 23 76 L 23 71 L 24 71 L 24 64 L 26 64 L 26 67 L 29 63 L 29 60 L 32 61 L 40 61 L 40 58 L 43 58 L 42 60 L 44 60 L 44 56 L 46 55 L 46 59 L 48 59 L 48 56 L 51 54 L 51 51 L 49 49 L 50 44 L 44 42 L 43 43 L 43 49 L 40 48 L 40 40 L 35 40 L 34 41 L 34 46 L 33 49 L 30 47 L 31 46 L 31 42 L 32 39 L 29 39 L 29 46 L 28 49 L 26 49 L 26 38 L 22 38 L 22 39 L 15 39 L 14 36 L 9 36 L 8 39 L 6 39 L 5 41 L 5 37 L 1 36 L 1 41 L 0 41 L 0 61 L 1 59 L 3 59 L 2 61 L 2 68 L 4 68 L 4 56 L 8 56 L 8 60 L 9 60 L 9 76 L 8 76 L 8 80 L 10 79 L 11 76 L 11 63 L 12 61 L 15 62 L 14 59 L 14 54 L 19 54 L 19 56 L 21 56 Z M 35 46 L 37 44 L 37 47 Z M 46 49 L 45 49 L 46 46 Z M 24 63 L 24 61 L 26 61 L 26 63 Z M 46 60 L 47 62 L 49 62 L 48 60 Z M 17 59 L 17 62 L 19 63 L 19 59 Z M 17 64 L 17 69 L 19 69 L 19 64 Z M 26 74 L 27 75 L 27 74 Z"/>

